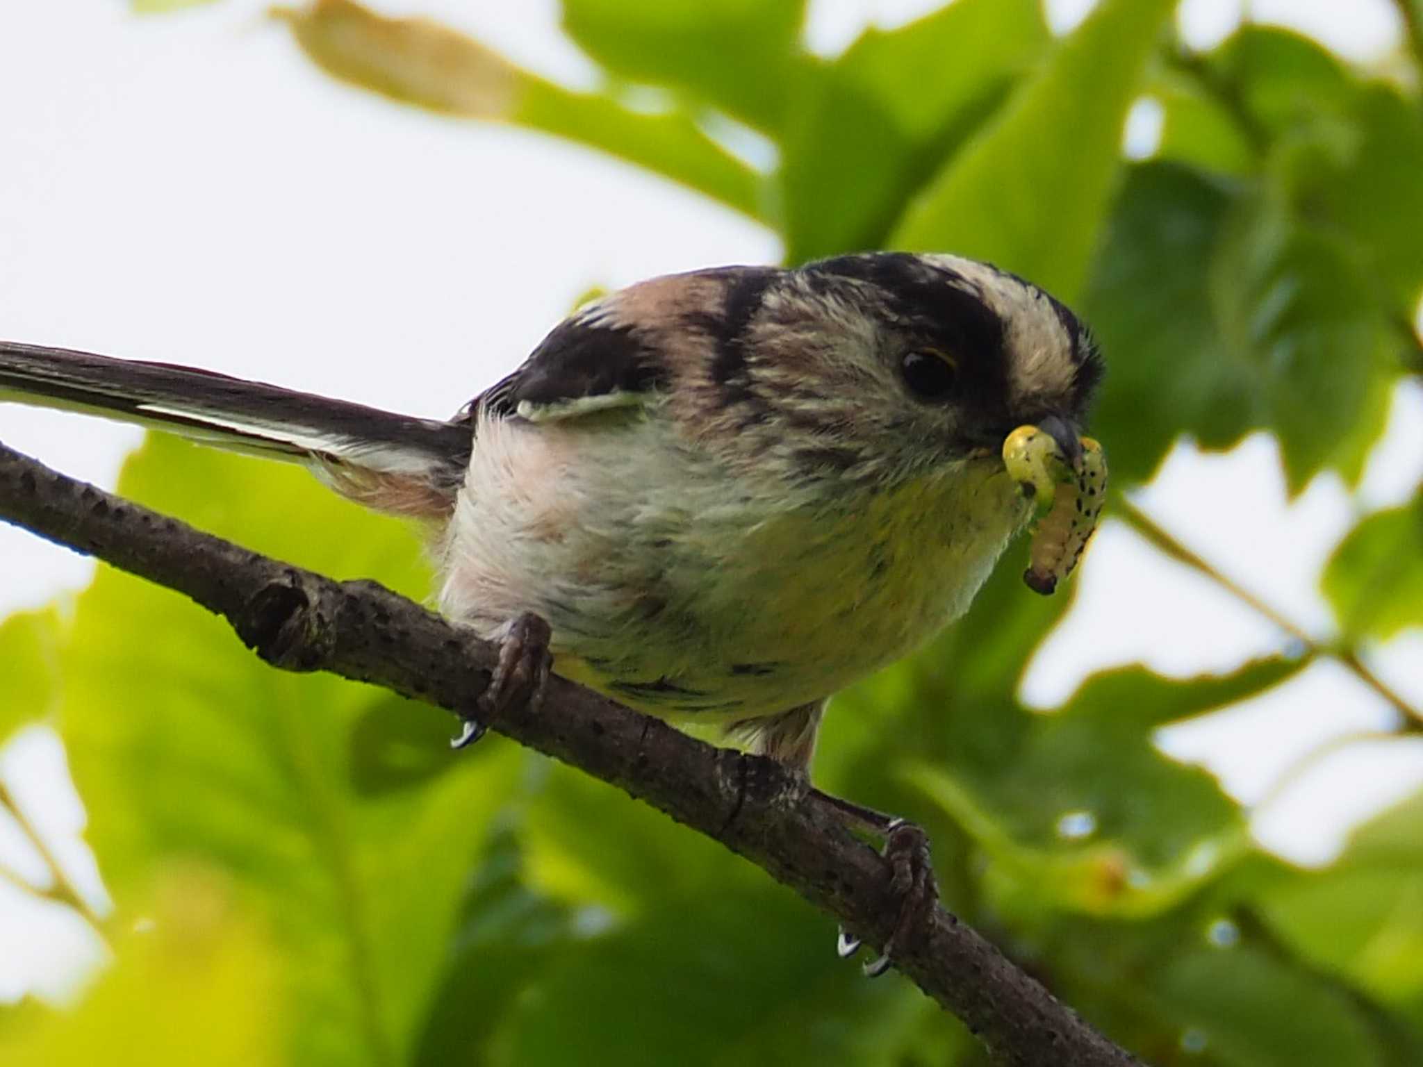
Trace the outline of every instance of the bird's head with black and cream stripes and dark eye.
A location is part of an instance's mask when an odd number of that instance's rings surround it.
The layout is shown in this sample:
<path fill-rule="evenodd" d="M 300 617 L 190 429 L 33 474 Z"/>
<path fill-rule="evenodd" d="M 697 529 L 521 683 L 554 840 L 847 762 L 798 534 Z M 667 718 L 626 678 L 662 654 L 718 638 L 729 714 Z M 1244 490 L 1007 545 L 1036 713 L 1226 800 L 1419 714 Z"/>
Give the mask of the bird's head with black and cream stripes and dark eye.
<path fill-rule="evenodd" d="M 998 461 L 1023 424 L 1074 460 L 1101 377 L 1091 336 L 1066 306 L 948 255 L 741 275 L 729 279 L 717 324 L 707 384 L 723 425 L 808 479 L 884 482 Z"/>

